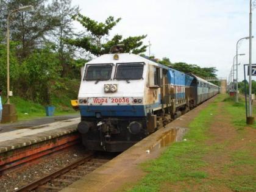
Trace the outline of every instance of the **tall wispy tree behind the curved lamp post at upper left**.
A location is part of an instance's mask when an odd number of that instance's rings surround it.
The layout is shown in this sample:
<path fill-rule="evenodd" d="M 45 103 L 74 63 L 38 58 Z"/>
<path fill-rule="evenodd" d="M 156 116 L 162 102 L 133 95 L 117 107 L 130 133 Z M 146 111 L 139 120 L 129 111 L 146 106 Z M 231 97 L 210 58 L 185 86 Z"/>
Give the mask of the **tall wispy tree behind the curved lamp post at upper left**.
<path fill-rule="evenodd" d="M 11 10 L 25 5 L 33 5 L 34 10 L 29 12 L 15 12 L 10 20 L 10 38 L 19 42 L 18 57 L 24 60 L 30 52 L 41 46 L 42 42 L 48 38 L 49 31 L 56 27 L 57 19 L 52 15 L 49 7 L 45 7 L 46 0 L 9 0 L 7 10 L 4 10 L 3 18 Z M 6 29 L 6 22 L 1 27 Z"/>

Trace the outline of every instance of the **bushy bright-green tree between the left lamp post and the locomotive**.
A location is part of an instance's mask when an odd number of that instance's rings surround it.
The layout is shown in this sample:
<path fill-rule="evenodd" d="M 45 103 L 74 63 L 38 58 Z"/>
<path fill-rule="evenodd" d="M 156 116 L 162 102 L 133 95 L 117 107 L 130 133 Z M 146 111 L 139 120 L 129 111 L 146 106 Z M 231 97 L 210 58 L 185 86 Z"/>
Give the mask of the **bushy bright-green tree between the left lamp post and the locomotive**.
<path fill-rule="evenodd" d="M 59 77 L 55 46 L 46 44 L 44 48 L 35 49 L 23 65 L 20 66 L 20 96 L 35 102 L 50 103 L 49 90 Z"/>

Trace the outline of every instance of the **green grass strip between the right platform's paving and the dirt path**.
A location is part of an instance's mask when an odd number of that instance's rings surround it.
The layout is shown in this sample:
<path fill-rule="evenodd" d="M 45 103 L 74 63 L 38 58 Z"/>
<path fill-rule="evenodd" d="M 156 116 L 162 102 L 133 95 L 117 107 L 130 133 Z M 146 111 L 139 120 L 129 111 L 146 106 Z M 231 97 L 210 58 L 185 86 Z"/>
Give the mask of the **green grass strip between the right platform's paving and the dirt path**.
<path fill-rule="evenodd" d="M 142 165 L 148 174 L 135 187 L 128 191 L 161 191 L 165 183 L 193 182 L 202 183 L 208 174 L 202 171 L 207 163 L 202 160 L 210 148 L 205 145 L 208 136 L 205 132 L 217 113 L 217 103 L 224 99 L 219 95 L 208 107 L 204 108 L 190 124 L 190 131 L 185 135 L 187 141 L 172 144 L 156 160 Z M 185 187 L 184 190 L 190 191 Z"/>

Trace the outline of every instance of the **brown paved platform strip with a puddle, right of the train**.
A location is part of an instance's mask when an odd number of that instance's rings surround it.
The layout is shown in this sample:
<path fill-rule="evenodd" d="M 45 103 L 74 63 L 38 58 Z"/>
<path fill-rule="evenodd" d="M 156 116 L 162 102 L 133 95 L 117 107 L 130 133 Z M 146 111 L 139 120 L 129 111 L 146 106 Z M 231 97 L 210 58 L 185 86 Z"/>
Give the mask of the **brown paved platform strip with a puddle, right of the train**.
<path fill-rule="evenodd" d="M 144 138 L 110 162 L 64 188 L 62 192 L 123 191 L 146 173 L 138 165 L 158 157 L 169 144 L 182 140 L 187 127 L 198 113 L 215 99 L 209 99 L 185 115 Z"/>

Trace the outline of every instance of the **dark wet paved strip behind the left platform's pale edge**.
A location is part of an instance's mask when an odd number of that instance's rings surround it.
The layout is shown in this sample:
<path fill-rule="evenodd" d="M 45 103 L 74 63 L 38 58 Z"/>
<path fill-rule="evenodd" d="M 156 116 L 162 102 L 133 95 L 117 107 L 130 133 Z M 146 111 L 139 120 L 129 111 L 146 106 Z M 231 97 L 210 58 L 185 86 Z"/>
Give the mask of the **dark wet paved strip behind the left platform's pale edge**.
<path fill-rule="evenodd" d="M 18 130 L 18 129 L 27 129 L 35 126 L 41 126 L 43 124 L 49 124 L 57 121 L 64 121 L 68 119 L 78 118 L 79 116 L 80 116 L 79 113 L 75 113 L 71 115 L 62 115 L 62 116 L 46 116 L 46 117 L 32 119 L 32 120 L 19 121 L 17 123 L 0 124 L 0 127 L 1 127 L 0 133 L 9 132 L 9 131 Z"/>

